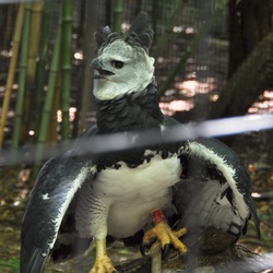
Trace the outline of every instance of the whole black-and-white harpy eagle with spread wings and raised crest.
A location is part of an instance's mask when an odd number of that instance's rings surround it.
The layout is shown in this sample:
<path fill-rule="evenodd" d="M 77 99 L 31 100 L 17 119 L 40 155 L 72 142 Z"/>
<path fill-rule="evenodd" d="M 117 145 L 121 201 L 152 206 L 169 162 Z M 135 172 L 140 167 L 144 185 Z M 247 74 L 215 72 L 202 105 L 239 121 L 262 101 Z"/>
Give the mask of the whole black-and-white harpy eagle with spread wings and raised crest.
<path fill-rule="evenodd" d="M 43 272 L 48 257 L 76 256 L 92 240 L 96 260 L 91 272 L 112 272 L 106 237 L 131 238 L 151 224 L 143 233 L 144 252 L 157 239 L 163 249 L 173 244 L 185 253 L 179 237 L 186 228 L 200 233 L 214 227 L 238 238 L 251 214 L 259 230 L 249 174 L 225 144 L 200 139 L 138 146 L 138 132 L 161 135 L 179 126 L 158 106 L 147 21 L 141 12 L 123 35 L 109 27 L 96 34 L 97 123 L 41 168 L 23 218 L 21 273 Z M 90 136 L 116 132 L 135 132 L 135 149 L 82 153 L 93 145 Z M 174 218 L 176 232 L 168 224 Z"/>

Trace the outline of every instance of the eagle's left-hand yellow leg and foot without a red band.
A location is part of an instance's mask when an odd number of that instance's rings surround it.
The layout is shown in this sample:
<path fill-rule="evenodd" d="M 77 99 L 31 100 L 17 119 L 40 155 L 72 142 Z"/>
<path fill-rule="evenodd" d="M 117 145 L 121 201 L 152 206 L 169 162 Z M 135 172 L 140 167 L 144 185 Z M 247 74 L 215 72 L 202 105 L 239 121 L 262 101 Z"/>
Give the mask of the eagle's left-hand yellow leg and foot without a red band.
<path fill-rule="evenodd" d="M 106 253 L 106 238 L 95 239 L 96 260 L 90 273 L 112 273 L 117 270 L 111 264 L 110 258 Z"/>

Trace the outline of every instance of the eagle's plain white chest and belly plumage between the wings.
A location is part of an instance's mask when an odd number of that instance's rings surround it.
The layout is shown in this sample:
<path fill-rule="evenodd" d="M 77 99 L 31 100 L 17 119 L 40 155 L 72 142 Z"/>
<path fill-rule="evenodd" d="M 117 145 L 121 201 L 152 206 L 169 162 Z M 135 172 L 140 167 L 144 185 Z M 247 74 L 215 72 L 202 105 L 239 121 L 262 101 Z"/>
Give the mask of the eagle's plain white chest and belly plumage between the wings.
<path fill-rule="evenodd" d="M 167 209 L 171 190 L 180 179 L 181 164 L 176 155 L 163 159 L 155 155 L 150 162 L 130 168 L 102 170 L 94 183 L 96 197 L 108 204 L 108 234 L 127 237 L 151 221 L 155 209 Z"/>

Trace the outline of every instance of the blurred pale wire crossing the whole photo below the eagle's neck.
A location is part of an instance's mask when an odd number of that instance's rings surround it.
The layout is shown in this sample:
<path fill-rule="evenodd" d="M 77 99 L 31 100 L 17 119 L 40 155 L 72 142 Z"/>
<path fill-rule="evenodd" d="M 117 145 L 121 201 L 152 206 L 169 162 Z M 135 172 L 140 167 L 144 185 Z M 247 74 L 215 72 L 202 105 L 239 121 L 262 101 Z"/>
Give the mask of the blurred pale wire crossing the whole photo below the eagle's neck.
<path fill-rule="evenodd" d="M 159 143 L 175 143 L 199 138 L 225 136 L 253 131 L 273 129 L 273 115 L 249 115 L 225 119 L 207 120 L 199 123 L 174 126 L 173 129 L 159 134 L 155 131 L 144 132 L 120 132 L 114 134 L 92 135 L 83 138 L 80 146 L 76 146 L 76 155 L 99 155 L 117 151 L 131 150 L 134 147 L 146 147 Z M 78 140 L 57 145 L 46 144 L 44 146 L 43 159 L 63 154 L 72 149 Z M 20 164 L 33 164 L 37 145 L 29 144 L 16 151 Z M 12 149 L 3 149 L 0 154 L 0 167 L 12 165 Z"/>

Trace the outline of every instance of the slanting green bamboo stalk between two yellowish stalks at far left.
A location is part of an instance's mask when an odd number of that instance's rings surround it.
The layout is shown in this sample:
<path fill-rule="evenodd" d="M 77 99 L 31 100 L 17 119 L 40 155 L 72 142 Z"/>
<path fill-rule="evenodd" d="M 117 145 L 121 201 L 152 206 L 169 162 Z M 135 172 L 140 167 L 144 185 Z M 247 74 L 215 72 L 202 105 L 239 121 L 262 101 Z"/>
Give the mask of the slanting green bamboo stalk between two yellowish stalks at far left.
<path fill-rule="evenodd" d="M 15 108 L 15 119 L 14 129 L 12 133 L 12 147 L 15 150 L 19 146 L 20 135 L 21 135 L 21 124 L 23 116 L 23 105 L 25 96 L 25 80 L 26 80 L 26 60 L 27 60 L 27 48 L 28 48 L 28 36 L 29 36 L 29 23 L 31 23 L 31 3 L 25 4 L 25 16 L 23 26 L 23 38 L 22 48 L 20 56 L 20 74 L 19 74 L 19 90 L 16 97 L 16 108 Z M 15 152 L 15 151 L 14 151 Z M 15 164 L 16 154 L 13 153 L 13 163 Z"/>

